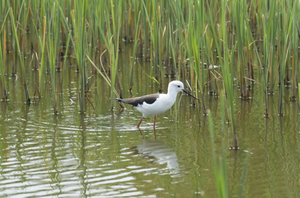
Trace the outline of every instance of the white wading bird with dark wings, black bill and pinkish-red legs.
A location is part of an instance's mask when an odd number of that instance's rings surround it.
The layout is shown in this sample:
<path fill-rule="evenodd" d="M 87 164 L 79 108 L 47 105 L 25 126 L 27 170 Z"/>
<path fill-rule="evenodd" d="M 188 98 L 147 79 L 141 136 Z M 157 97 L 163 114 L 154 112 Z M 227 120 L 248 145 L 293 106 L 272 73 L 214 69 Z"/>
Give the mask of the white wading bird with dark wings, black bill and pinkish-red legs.
<path fill-rule="evenodd" d="M 182 91 L 194 97 L 184 89 L 184 84 L 181 81 L 174 80 L 169 83 L 167 94 L 154 93 L 140 97 L 116 99 L 114 101 L 132 105 L 135 109 L 142 113 L 142 118 L 137 127 L 140 126 L 144 117 L 154 116 L 153 128 L 155 128 L 156 116 L 169 110 L 176 101 L 177 93 Z M 198 100 L 198 98 L 194 98 Z"/>

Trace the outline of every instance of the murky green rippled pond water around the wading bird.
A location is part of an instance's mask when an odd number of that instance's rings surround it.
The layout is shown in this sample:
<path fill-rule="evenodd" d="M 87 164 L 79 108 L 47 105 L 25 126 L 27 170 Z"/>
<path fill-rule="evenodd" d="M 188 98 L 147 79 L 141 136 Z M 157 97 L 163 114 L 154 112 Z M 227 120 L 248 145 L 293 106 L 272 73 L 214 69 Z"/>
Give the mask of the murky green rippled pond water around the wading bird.
<path fill-rule="evenodd" d="M 122 53 L 124 68 L 130 62 L 129 54 Z M 122 65 L 124 96 L 129 97 L 130 71 Z M 178 105 L 178 94 L 172 111 L 158 116 L 155 131 L 153 117 L 145 118 L 139 130 L 135 127 L 139 112 L 130 107 L 122 112 L 117 104 L 110 111 L 109 87 L 99 75 L 93 78 L 95 84 L 89 95 L 95 114 L 87 103 L 87 113 L 80 115 L 75 70 L 69 68 L 64 74 L 57 116 L 51 109 L 50 84 L 45 83 L 43 97 L 28 106 L 24 104 L 20 78 L 7 79 L 10 101 L 1 103 L 0 118 L 1 197 L 217 196 L 208 121 L 200 115 L 199 125 L 191 97 L 183 95 Z M 38 74 L 27 72 L 33 93 L 33 80 Z M 135 79 L 134 96 L 158 90 L 139 67 Z M 170 80 L 165 79 L 164 90 Z M 264 118 L 262 87 L 255 84 L 252 92 L 252 100 L 241 101 L 235 90 L 240 149 L 226 150 L 229 197 L 297 197 L 298 107 L 287 101 L 285 115 L 279 117 L 277 95 L 270 96 L 271 117 Z M 222 139 L 229 148 L 232 135 L 228 135 L 227 125 L 222 130 L 220 101 L 207 96 L 207 107 L 213 114 L 215 146 L 220 155 Z"/>

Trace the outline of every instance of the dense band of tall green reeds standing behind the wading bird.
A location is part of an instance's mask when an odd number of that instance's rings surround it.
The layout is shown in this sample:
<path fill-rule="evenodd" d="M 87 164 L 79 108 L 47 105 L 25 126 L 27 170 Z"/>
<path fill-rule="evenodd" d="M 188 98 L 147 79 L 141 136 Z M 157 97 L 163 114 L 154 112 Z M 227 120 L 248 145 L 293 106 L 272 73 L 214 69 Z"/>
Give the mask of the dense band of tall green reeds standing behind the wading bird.
<path fill-rule="evenodd" d="M 298 1 L 51 0 L 14 1 L 13 4 L 2 1 L 0 9 L 3 13 L 0 33 L 2 98 L 6 98 L 3 74 L 7 71 L 5 50 L 9 43 L 15 57 L 19 57 L 19 61 L 13 62 L 12 74 L 21 73 L 27 103 L 31 101 L 26 81 L 29 65 L 24 65 L 24 54 L 29 48 L 39 63 L 39 82 L 33 83 L 39 84 L 40 90 L 47 89 L 41 86 L 43 79 L 51 78 L 54 106 L 60 63 L 63 61 L 65 65 L 66 60 L 76 57 L 80 113 L 86 112 L 91 71 L 105 79 L 110 86 L 111 99 L 122 98 L 122 72 L 131 71 L 128 81 L 129 90 L 132 90 L 135 88 L 134 70 L 143 70 L 143 63 L 147 61 L 150 64 L 145 76 L 159 85 L 159 92 L 164 91 L 165 78 L 187 82 L 190 91 L 201 98 L 195 105 L 203 115 L 207 115 L 207 98 L 218 98 L 224 91 L 234 148 L 238 148 L 235 85 L 243 100 L 256 97 L 250 91 L 253 83 L 263 87 L 265 117 L 269 116 L 268 97 L 275 91 L 280 92 L 279 115 L 283 115 L 287 102 L 283 95 L 285 89 L 291 87 L 291 102 L 297 101 L 300 73 Z M 6 19 L 7 13 L 10 19 Z M 8 36 L 11 33 L 13 37 Z M 24 42 L 26 34 L 31 38 L 28 43 Z M 123 53 L 123 46 L 133 48 L 133 54 L 130 64 L 121 67 L 119 55 Z M 15 71 L 14 65 L 18 64 L 20 71 Z M 137 64 L 140 67 L 135 67 Z M 68 68 L 64 67 L 61 80 L 66 70 Z M 255 81 L 254 74 L 259 76 Z M 110 108 L 113 106 L 111 101 Z"/>

